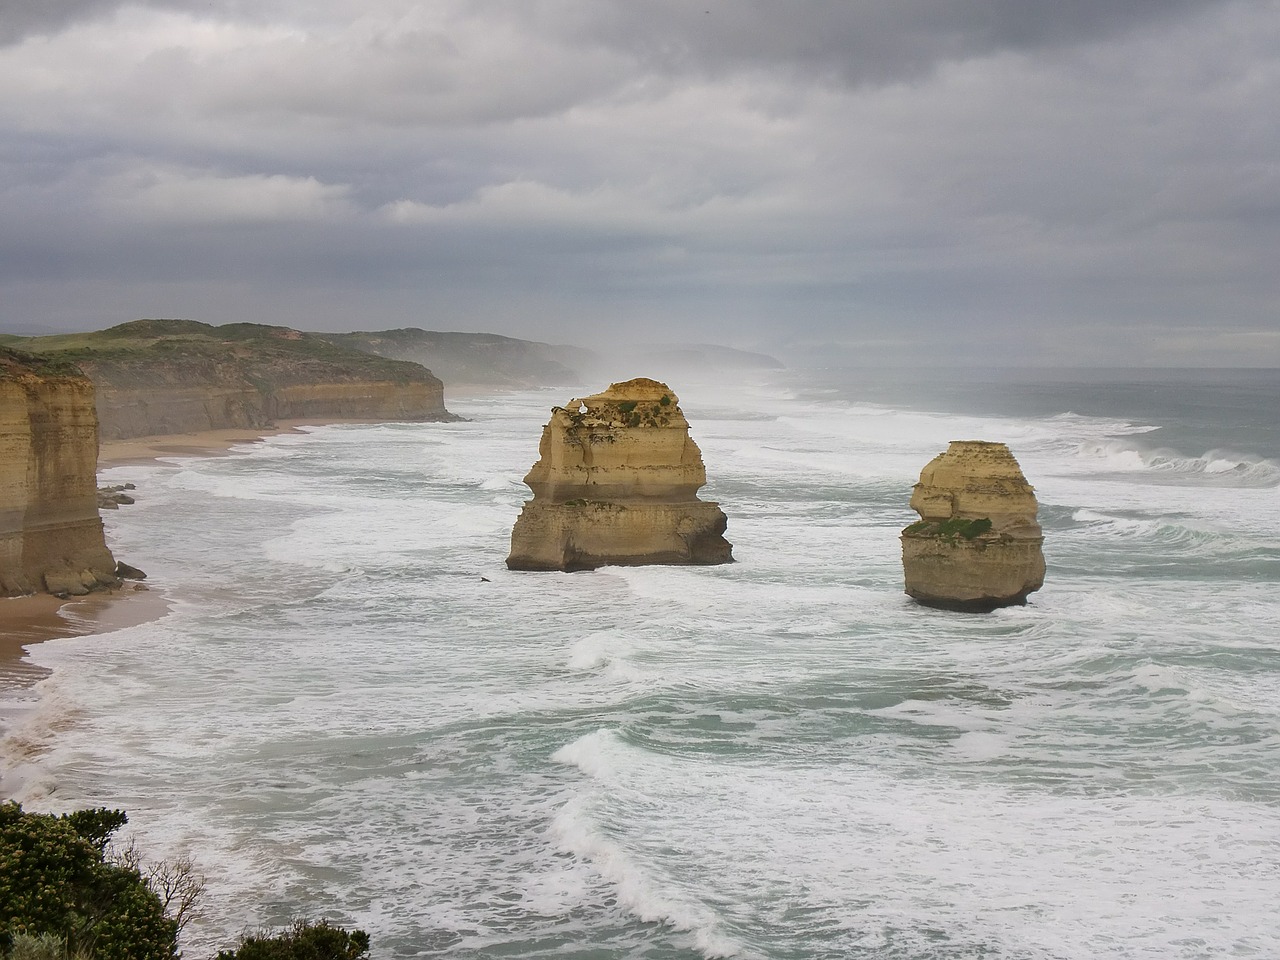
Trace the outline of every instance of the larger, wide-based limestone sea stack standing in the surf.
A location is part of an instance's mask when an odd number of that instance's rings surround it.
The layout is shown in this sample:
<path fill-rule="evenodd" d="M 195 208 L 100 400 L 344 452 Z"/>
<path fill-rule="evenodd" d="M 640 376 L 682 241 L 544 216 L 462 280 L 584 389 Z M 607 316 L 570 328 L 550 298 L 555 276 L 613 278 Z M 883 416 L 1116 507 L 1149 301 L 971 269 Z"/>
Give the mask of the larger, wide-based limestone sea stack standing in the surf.
<path fill-rule="evenodd" d="M 724 513 L 698 499 L 703 454 L 666 384 L 639 378 L 552 407 L 538 453 L 511 570 L 732 562 Z"/>

